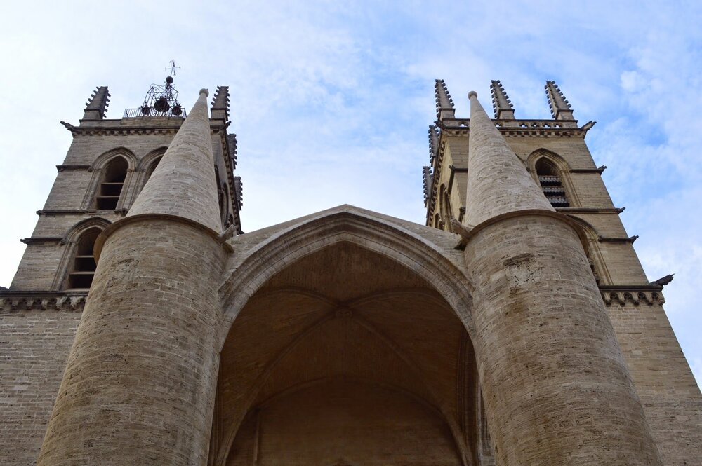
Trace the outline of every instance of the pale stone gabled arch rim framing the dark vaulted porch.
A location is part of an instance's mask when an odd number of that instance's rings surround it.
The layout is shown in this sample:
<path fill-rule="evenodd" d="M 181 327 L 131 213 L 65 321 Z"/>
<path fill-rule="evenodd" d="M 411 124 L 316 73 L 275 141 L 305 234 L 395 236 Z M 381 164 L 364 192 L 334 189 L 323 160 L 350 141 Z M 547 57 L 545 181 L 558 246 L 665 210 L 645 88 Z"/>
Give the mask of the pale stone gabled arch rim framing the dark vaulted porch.
<path fill-rule="evenodd" d="M 446 238 L 444 247 L 439 247 L 435 242 L 399 225 L 405 222 L 391 223 L 389 219 L 342 205 L 303 217 L 294 224 L 283 224 L 279 231 L 270 234 L 249 251 L 234 254 L 228 276 L 220 287 L 226 322 L 220 341 L 224 341 L 227 331 L 249 298 L 273 275 L 299 259 L 339 242 L 351 242 L 412 270 L 435 287 L 461 320 L 468 335 L 475 336 L 471 317 L 472 285 L 462 268 L 463 256 L 458 252 L 458 259 L 446 252 L 447 246 L 451 245 L 451 249 L 455 246 L 456 236 L 446 233 L 450 238 Z M 411 225 L 409 222 L 406 224 Z M 249 238 L 252 234 L 249 233 Z"/>

